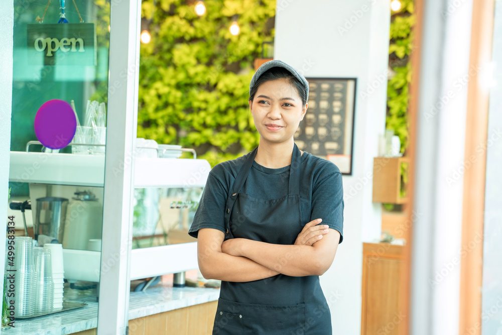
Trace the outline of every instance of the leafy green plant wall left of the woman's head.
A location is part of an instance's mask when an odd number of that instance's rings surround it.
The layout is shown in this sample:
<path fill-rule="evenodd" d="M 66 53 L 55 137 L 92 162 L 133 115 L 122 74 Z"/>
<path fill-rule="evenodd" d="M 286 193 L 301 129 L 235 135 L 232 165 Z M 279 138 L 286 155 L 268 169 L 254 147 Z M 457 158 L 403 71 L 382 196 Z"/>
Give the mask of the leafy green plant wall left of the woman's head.
<path fill-rule="evenodd" d="M 247 104 L 254 60 L 274 38 L 275 0 L 145 0 L 138 137 L 195 148 L 211 166 L 258 145 Z M 229 32 L 237 15 L 240 34 Z"/>

